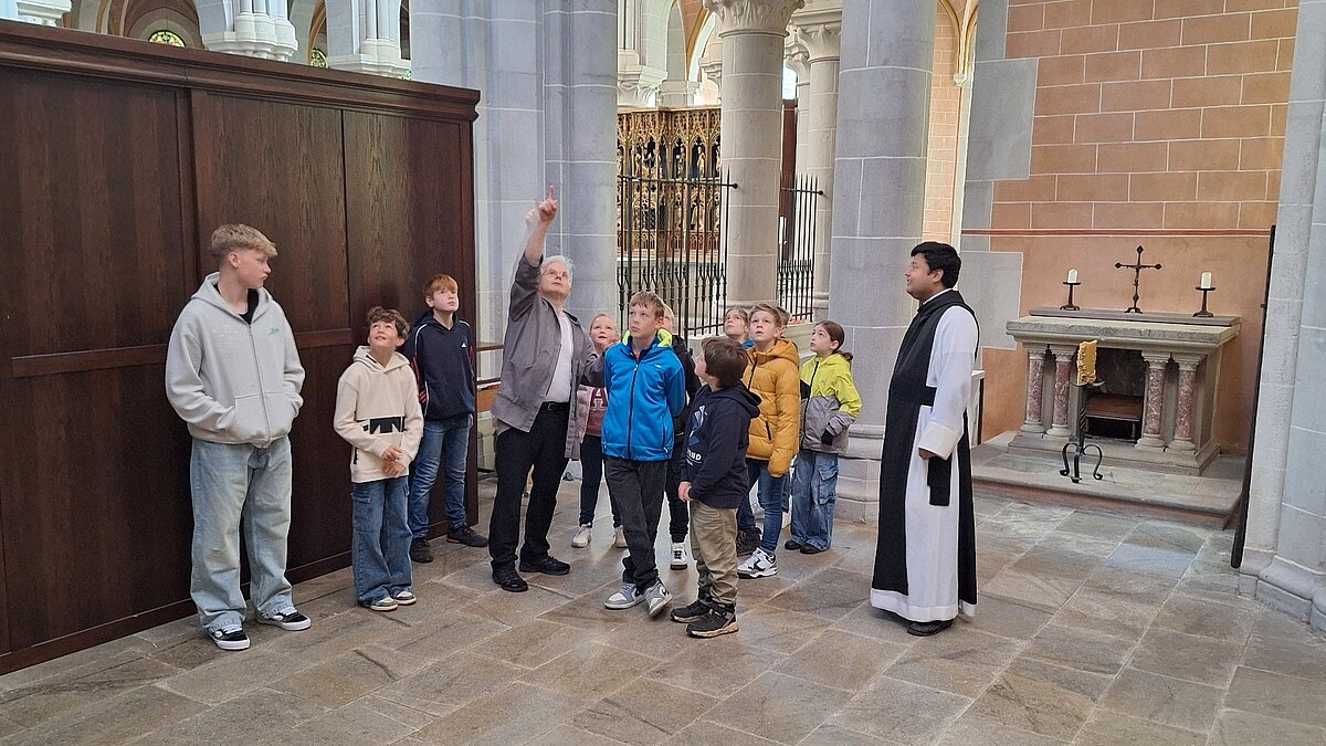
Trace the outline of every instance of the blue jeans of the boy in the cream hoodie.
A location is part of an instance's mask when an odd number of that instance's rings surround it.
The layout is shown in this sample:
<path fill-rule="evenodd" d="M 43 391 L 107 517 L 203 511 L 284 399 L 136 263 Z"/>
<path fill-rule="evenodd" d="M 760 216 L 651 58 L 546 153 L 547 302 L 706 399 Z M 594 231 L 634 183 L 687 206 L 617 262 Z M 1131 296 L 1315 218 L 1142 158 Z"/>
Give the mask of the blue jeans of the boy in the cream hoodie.
<path fill-rule="evenodd" d="M 407 479 L 374 479 L 354 486 L 354 595 L 361 605 L 408 591 L 410 527 L 406 524 Z"/>

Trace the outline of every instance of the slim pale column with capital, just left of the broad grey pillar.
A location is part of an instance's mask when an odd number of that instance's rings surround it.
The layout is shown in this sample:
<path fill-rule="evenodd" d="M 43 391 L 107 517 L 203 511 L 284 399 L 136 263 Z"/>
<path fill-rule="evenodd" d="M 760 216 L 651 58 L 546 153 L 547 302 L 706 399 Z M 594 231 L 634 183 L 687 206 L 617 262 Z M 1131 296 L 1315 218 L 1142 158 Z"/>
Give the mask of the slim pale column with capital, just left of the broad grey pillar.
<path fill-rule="evenodd" d="M 833 244 L 833 171 L 838 147 L 838 68 L 842 3 L 819 0 L 792 16 L 810 64 L 809 157 L 805 173 L 823 192 L 815 202 L 814 287 L 810 304 L 815 321 L 829 317 L 830 247 Z M 798 105 L 800 109 L 800 105 Z"/>

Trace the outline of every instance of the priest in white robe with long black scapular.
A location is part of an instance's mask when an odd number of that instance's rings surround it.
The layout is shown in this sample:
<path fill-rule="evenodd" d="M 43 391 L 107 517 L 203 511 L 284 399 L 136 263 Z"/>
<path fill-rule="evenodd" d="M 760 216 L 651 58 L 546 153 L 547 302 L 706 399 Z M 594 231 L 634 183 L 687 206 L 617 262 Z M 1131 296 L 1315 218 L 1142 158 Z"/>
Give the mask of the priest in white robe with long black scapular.
<path fill-rule="evenodd" d="M 918 636 L 976 613 L 976 519 L 967 402 L 977 329 L 953 289 L 961 259 L 945 243 L 911 252 L 907 295 L 920 301 L 888 382 L 879 477 L 879 544 L 870 603 Z"/>

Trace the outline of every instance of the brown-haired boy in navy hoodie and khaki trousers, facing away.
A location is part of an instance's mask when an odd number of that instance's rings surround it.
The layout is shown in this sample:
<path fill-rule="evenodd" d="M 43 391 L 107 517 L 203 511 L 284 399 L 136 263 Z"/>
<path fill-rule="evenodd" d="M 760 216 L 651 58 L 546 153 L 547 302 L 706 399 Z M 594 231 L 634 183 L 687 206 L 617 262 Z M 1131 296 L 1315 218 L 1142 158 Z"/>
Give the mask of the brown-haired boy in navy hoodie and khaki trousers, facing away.
<path fill-rule="evenodd" d="M 741 385 L 747 354 L 724 337 L 704 340 L 695 373 L 705 386 L 691 402 L 679 496 L 691 506 L 691 551 L 699 572 L 695 603 L 672 609 L 692 637 L 737 631 L 737 506 L 751 488 L 745 454 L 760 400 Z"/>

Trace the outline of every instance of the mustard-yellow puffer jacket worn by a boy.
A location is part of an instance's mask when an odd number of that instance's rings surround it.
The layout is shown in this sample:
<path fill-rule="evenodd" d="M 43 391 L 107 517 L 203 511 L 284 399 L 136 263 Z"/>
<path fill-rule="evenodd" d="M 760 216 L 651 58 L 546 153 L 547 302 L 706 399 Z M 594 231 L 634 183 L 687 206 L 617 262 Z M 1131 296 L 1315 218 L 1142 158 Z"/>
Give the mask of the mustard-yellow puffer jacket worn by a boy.
<path fill-rule="evenodd" d="M 751 421 L 749 458 L 769 462 L 769 475 L 782 477 L 797 455 L 801 419 L 801 378 L 797 345 L 774 340 L 769 352 L 747 350 L 751 362 L 743 381 L 760 397 L 760 417 Z"/>

